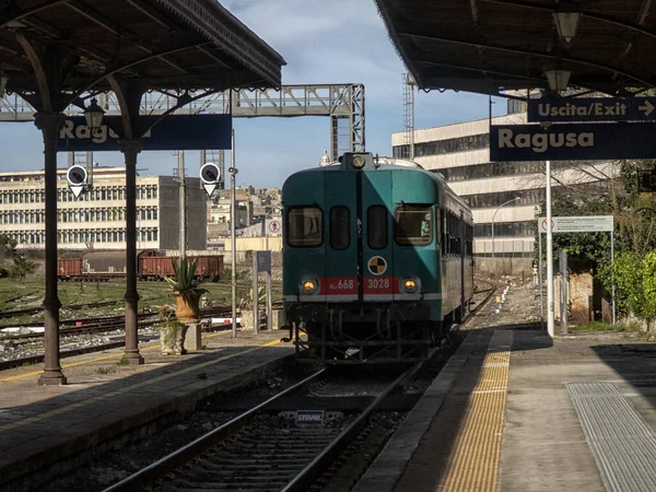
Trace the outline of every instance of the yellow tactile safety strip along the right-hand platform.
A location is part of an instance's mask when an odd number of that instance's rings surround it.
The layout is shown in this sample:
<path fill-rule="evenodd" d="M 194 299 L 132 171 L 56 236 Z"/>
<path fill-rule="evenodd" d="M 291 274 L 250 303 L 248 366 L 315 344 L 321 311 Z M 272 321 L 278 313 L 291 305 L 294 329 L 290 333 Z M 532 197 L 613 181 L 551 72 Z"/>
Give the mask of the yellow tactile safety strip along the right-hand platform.
<path fill-rule="evenodd" d="M 443 492 L 495 492 L 512 331 L 496 331 L 440 484 Z"/>

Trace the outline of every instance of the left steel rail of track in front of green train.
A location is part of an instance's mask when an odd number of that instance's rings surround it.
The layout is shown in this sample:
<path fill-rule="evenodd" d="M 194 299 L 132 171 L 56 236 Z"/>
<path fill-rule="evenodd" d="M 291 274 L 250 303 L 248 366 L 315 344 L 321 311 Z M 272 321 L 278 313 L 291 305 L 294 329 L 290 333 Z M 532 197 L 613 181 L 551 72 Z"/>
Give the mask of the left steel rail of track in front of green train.
<path fill-rule="evenodd" d="M 216 427 L 213 431 L 198 437 L 196 441 L 192 441 L 186 446 L 180 447 L 179 449 L 159 459 L 152 465 L 149 465 L 148 467 L 139 470 L 137 473 L 133 473 L 130 477 L 125 478 L 120 482 L 117 482 L 114 485 L 105 489 L 103 492 L 133 492 L 136 490 L 143 489 L 149 483 L 175 470 L 180 465 L 189 461 L 190 459 L 194 459 L 195 457 L 204 453 L 210 447 L 214 446 L 215 444 L 220 443 L 221 441 L 224 441 L 237 431 L 242 430 L 244 426 L 246 426 L 246 424 L 248 424 L 248 422 L 253 420 L 253 418 L 258 411 L 278 401 L 283 396 L 286 396 L 290 393 L 296 391 L 305 387 L 307 384 L 314 382 L 318 376 L 320 376 L 325 372 L 326 368 L 316 372 L 315 374 L 306 377 L 302 382 L 296 383 L 294 386 L 284 389 L 278 395 L 274 395 L 268 400 L 259 403 L 257 407 L 254 407 L 247 412 L 234 418 L 230 422 L 224 423 L 220 427 Z"/>

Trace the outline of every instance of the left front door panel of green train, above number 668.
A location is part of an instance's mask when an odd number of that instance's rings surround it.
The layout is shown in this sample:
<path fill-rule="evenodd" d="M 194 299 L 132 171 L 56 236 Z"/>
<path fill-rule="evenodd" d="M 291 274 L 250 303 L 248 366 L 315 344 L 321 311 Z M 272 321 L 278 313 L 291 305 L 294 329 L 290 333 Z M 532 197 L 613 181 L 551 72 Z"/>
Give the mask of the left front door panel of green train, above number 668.
<path fill-rule="evenodd" d="M 358 187 L 361 173 L 325 173 L 326 271 L 321 293 L 327 302 L 358 301 Z"/>

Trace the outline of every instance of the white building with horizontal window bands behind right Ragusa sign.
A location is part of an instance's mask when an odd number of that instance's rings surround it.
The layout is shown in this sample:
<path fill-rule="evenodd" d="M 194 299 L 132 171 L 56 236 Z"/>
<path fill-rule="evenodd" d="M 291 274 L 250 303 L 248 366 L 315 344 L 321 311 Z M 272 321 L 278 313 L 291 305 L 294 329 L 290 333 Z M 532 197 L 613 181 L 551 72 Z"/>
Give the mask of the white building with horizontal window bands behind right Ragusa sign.
<path fill-rule="evenodd" d="M 508 109 L 518 109 L 519 104 L 509 101 Z M 490 122 L 526 124 L 526 113 L 414 130 L 414 160 L 425 169 L 444 175 L 454 191 L 471 207 L 476 256 L 492 256 L 494 220 L 495 256 L 532 258 L 536 207 L 544 200 L 544 163 L 490 162 Z M 393 133 L 395 156 L 408 156 L 408 141 L 406 132 Z M 616 176 L 617 172 L 609 162 L 552 163 L 552 166 L 554 187 L 589 186 Z"/>

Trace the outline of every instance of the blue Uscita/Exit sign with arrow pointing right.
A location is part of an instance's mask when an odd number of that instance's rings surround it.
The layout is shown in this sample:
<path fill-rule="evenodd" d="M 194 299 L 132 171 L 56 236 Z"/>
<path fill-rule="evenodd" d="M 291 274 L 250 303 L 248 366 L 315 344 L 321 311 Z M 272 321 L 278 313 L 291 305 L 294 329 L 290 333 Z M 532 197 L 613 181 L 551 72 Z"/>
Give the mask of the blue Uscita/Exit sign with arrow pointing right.
<path fill-rule="evenodd" d="M 528 99 L 528 121 L 653 121 L 656 97 Z"/>

